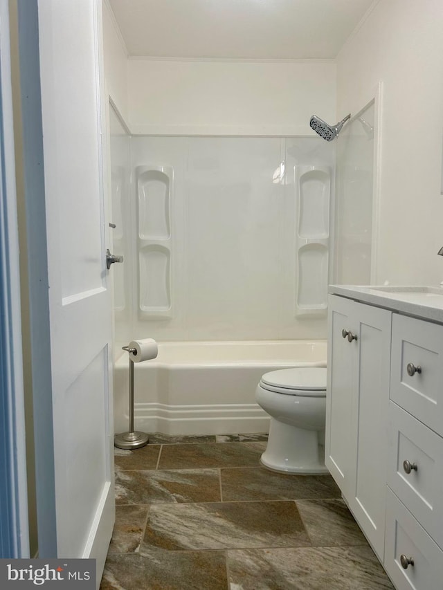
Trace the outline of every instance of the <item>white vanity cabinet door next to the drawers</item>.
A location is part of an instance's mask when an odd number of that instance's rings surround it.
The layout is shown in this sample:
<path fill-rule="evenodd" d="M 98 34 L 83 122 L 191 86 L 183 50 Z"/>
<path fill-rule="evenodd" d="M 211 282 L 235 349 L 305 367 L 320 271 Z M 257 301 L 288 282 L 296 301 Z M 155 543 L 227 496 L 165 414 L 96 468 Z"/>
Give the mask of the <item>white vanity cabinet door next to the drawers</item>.
<path fill-rule="evenodd" d="M 390 382 L 390 311 L 354 304 L 350 509 L 383 560 Z M 354 331 L 353 331 L 354 333 Z"/>

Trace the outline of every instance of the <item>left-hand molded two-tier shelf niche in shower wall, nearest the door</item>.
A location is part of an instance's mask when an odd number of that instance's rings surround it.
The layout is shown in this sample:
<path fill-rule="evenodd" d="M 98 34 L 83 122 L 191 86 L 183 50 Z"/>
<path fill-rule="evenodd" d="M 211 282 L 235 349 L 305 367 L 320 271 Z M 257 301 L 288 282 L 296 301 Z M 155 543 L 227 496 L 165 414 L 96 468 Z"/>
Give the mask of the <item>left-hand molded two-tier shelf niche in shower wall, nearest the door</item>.
<path fill-rule="evenodd" d="M 174 170 L 138 166 L 138 309 L 141 318 L 172 317 L 171 208 Z"/>

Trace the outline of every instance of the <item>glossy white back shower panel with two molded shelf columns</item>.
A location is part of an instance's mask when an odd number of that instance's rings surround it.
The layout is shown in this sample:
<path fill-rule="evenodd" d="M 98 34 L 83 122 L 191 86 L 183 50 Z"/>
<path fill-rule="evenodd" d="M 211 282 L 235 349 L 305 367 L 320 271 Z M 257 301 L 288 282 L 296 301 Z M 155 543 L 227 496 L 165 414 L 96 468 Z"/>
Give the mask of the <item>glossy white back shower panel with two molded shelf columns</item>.
<path fill-rule="evenodd" d="M 132 137 L 134 337 L 325 338 L 333 150 L 317 138 Z"/>

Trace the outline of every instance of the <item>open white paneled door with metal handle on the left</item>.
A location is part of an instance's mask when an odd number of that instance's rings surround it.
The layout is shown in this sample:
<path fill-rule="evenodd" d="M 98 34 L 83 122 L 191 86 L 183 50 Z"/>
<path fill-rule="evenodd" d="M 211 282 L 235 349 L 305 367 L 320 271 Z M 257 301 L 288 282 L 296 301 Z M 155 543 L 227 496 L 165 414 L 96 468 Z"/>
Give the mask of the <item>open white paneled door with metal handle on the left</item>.
<path fill-rule="evenodd" d="M 100 0 L 38 1 L 57 554 L 95 557 L 98 578 L 114 524 L 101 18 Z"/>

